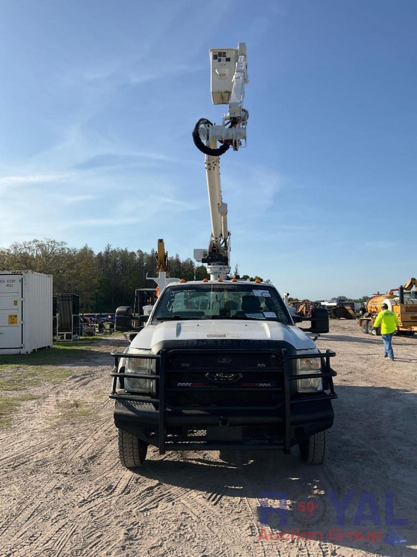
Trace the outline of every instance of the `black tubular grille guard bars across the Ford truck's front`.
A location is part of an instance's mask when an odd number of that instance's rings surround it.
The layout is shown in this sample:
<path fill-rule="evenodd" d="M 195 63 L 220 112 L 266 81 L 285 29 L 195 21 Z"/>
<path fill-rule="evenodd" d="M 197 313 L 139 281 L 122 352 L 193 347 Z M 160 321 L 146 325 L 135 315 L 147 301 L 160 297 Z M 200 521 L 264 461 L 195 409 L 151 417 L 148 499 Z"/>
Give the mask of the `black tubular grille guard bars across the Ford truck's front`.
<path fill-rule="evenodd" d="M 113 368 L 112 372 L 111 372 L 111 377 L 113 378 L 113 383 L 112 383 L 112 390 L 111 393 L 109 394 L 109 397 L 112 399 L 116 399 L 116 400 L 130 400 L 132 402 L 148 402 L 148 403 L 152 403 L 157 405 L 158 407 L 158 431 L 159 431 L 159 435 L 158 435 L 158 448 L 159 448 L 159 452 L 160 455 L 165 454 L 165 431 L 166 431 L 166 409 L 170 408 L 171 410 L 178 410 L 178 411 L 183 411 L 183 410 L 214 410 L 216 409 L 216 411 L 230 411 L 230 410 L 236 410 L 237 407 L 230 407 L 230 406 L 220 406 L 220 405 L 216 405 L 214 406 L 198 406 L 198 408 L 196 408 L 195 406 L 176 406 L 176 405 L 172 405 L 172 404 L 168 404 L 165 401 L 165 393 L 169 390 L 175 390 L 175 391 L 192 391 L 192 392 L 198 392 L 198 391 L 204 391 L 207 390 L 207 387 L 175 387 L 175 388 L 167 388 L 166 384 L 165 384 L 165 375 L 166 375 L 166 368 L 165 368 L 165 359 L 166 359 L 166 354 L 167 352 L 169 352 L 170 355 L 172 354 L 179 354 L 179 353 L 189 353 L 189 350 L 186 349 L 173 349 L 173 350 L 167 350 L 165 348 L 161 349 L 159 354 L 131 354 L 131 353 L 121 353 L 121 352 L 112 352 L 111 355 L 113 356 L 113 358 L 115 358 L 115 367 Z M 198 353 L 210 353 L 212 354 L 212 350 L 198 350 Z M 221 353 L 221 352 L 227 352 L 227 353 L 239 353 L 239 354 L 245 354 L 245 353 L 250 353 L 253 354 L 253 350 L 245 350 L 245 349 L 230 349 L 230 348 L 226 348 L 226 349 L 216 349 L 216 353 Z M 284 443 L 283 443 L 283 449 L 284 452 L 289 453 L 290 452 L 290 447 L 291 447 L 291 431 L 290 431 L 290 426 L 291 426 L 291 404 L 296 404 L 296 403 L 300 403 L 300 402 L 316 402 L 317 400 L 329 400 L 329 399 L 334 399 L 337 398 L 337 394 L 335 393 L 334 390 L 334 385 L 333 385 L 333 377 L 335 377 L 335 375 L 337 375 L 337 373 L 335 372 L 334 369 L 331 368 L 330 365 L 330 358 L 334 357 L 336 355 L 336 353 L 332 350 L 326 350 L 324 353 L 317 353 L 317 354 L 291 354 L 289 355 L 287 353 L 286 349 L 282 349 L 282 350 L 272 350 L 272 349 L 257 349 L 256 350 L 257 353 L 267 353 L 267 354 L 276 354 L 277 356 L 279 356 L 280 358 L 282 358 L 282 362 L 284 364 L 283 369 L 278 369 L 278 368 L 261 368 L 259 369 L 259 372 L 266 372 L 266 371 L 274 371 L 277 373 L 283 373 L 284 374 L 284 401 L 280 402 L 279 404 L 276 405 L 267 405 L 267 406 L 261 406 L 261 405 L 252 405 L 252 406 L 247 406 L 247 407 L 238 407 L 239 410 L 246 410 L 246 411 L 260 411 L 260 410 L 274 410 L 274 409 L 279 409 L 282 407 L 282 405 L 284 405 Z M 150 360 L 156 360 L 156 373 L 152 373 L 152 374 L 147 374 L 147 373 L 120 373 L 118 371 L 118 363 L 119 363 L 119 359 L 120 358 L 141 358 L 141 359 L 150 359 Z M 325 371 L 320 372 L 320 373 L 309 373 L 309 374 L 292 374 L 291 373 L 291 366 L 290 366 L 290 361 L 291 360 L 300 360 L 300 359 L 304 359 L 304 358 L 320 358 L 321 360 L 321 364 L 322 364 L 322 369 L 324 368 Z M 169 369 L 168 373 L 178 373 L 178 372 L 182 372 L 183 370 L 180 369 Z M 233 369 L 228 369 L 227 373 L 233 373 L 235 370 Z M 256 370 L 252 369 L 239 369 L 239 373 L 256 373 Z M 155 381 L 155 387 L 156 382 L 158 382 L 158 389 L 154 389 L 156 393 L 159 393 L 158 396 L 153 396 L 153 395 L 133 395 L 133 394 L 120 394 L 117 392 L 117 379 L 120 378 L 130 378 L 130 379 L 148 379 L 151 381 Z M 302 397 L 300 398 L 294 398 L 291 399 L 291 389 L 290 389 L 290 382 L 294 381 L 294 380 L 299 380 L 299 379 L 317 379 L 317 378 L 327 378 L 327 382 L 329 384 L 329 390 L 330 393 L 326 393 L 324 391 L 322 392 L 316 392 L 314 393 L 314 395 L 302 395 Z M 209 388 L 211 389 L 211 388 Z M 282 388 L 273 388 L 273 387 L 230 387 L 230 385 L 216 385 L 215 387 L 216 390 L 218 391 L 246 391 L 246 390 L 251 390 L 251 391 L 265 391 L 265 390 L 281 390 Z M 191 444 L 169 444 L 169 448 L 171 449 L 193 449 L 193 448 L 207 448 L 204 446 L 200 446 L 200 447 L 193 447 Z M 215 447 L 213 447 L 215 448 Z M 226 447 L 225 448 L 230 448 L 230 447 Z M 234 448 L 249 448 L 248 446 L 237 446 L 236 444 L 234 444 Z M 271 446 L 265 446 L 262 448 L 277 448 L 276 445 L 271 445 Z"/>

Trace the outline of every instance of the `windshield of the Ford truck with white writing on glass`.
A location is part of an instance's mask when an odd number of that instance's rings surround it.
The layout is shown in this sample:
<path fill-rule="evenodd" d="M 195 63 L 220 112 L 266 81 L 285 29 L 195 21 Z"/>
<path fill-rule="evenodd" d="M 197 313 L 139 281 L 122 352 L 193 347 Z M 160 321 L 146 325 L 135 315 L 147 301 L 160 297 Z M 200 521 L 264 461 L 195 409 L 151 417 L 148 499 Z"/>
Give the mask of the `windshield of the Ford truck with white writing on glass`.
<path fill-rule="evenodd" d="M 158 300 L 152 320 L 256 319 L 291 323 L 274 288 L 257 284 L 171 286 Z"/>

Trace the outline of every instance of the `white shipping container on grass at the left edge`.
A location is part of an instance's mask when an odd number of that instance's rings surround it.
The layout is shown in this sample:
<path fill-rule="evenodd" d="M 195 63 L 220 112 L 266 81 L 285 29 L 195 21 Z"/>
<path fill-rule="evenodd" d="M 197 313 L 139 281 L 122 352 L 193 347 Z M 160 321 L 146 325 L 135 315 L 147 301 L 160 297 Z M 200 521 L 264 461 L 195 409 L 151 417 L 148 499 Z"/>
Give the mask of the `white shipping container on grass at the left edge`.
<path fill-rule="evenodd" d="M 0 271 L 0 355 L 52 346 L 52 275 Z"/>

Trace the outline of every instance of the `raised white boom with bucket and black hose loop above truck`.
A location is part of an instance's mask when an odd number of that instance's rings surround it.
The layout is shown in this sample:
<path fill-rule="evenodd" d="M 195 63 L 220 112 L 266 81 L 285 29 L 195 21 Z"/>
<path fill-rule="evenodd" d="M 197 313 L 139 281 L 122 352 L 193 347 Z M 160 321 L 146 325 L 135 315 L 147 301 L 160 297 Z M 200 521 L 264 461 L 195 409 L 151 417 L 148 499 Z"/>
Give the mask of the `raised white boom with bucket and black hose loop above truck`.
<path fill-rule="evenodd" d="M 211 218 L 211 237 L 208 250 L 194 250 L 198 262 L 207 263 L 211 280 L 226 278 L 230 273 L 230 232 L 227 228 L 227 204 L 223 202 L 220 185 L 219 157 L 232 146 L 237 151 L 245 141 L 249 117 L 243 108 L 247 77 L 246 45 L 237 48 L 211 48 L 211 97 L 213 104 L 229 104 L 222 125 L 209 120 L 198 120 L 193 140 L 205 153 L 207 190 Z M 217 146 L 217 143 L 220 146 Z"/>

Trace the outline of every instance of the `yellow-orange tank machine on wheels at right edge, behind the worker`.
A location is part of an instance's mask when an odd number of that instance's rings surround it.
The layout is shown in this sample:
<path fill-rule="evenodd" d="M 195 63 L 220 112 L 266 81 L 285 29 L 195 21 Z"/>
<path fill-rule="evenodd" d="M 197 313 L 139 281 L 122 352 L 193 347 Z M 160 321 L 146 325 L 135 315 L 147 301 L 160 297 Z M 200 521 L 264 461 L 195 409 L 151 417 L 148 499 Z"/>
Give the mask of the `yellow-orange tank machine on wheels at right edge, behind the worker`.
<path fill-rule="evenodd" d="M 394 292 L 398 292 L 398 294 L 394 294 Z M 376 292 L 366 302 L 363 315 L 359 317 L 359 326 L 363 333 L 372 334 L 374 322 L 381 311 L 382 304 L 388 305 L 388 309 L 397 316 L 400 326 L 396 334 L 413 336 L 417 331 L 417 279 L 410 278 L 404 286 L 393 288 L 386 294 Z M 375 332 L 379 334 L 378 330 Z"/>

